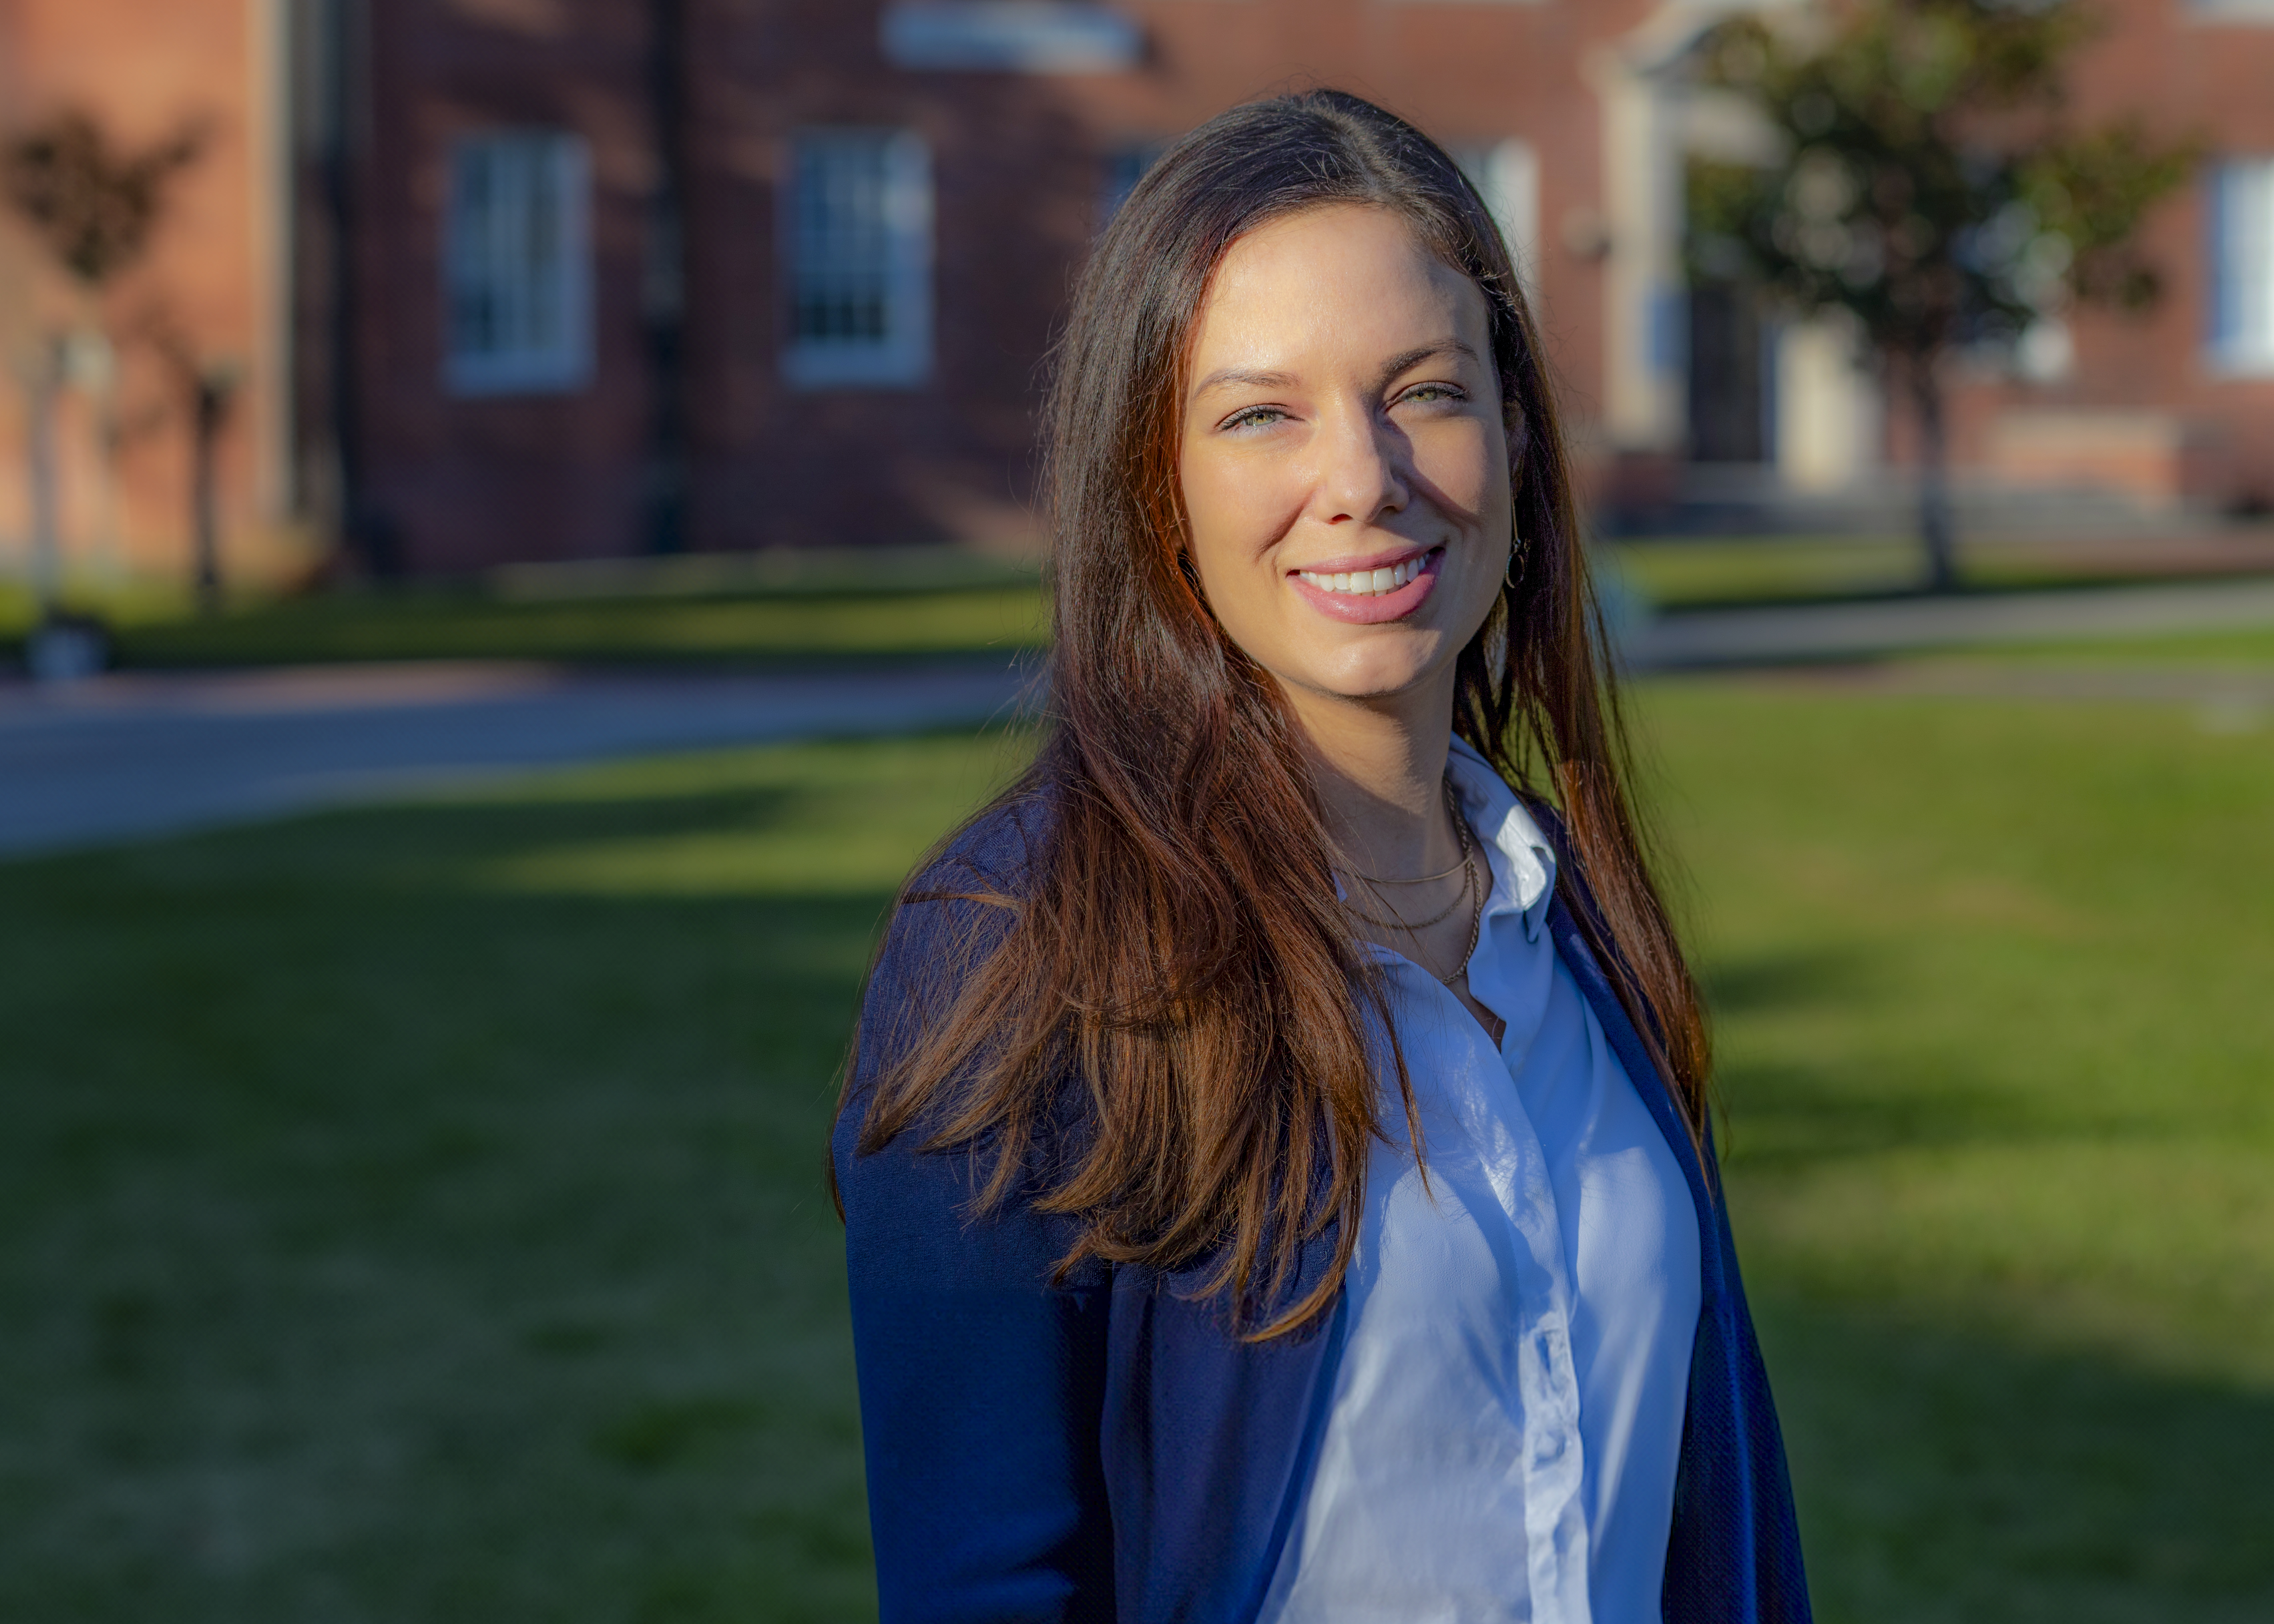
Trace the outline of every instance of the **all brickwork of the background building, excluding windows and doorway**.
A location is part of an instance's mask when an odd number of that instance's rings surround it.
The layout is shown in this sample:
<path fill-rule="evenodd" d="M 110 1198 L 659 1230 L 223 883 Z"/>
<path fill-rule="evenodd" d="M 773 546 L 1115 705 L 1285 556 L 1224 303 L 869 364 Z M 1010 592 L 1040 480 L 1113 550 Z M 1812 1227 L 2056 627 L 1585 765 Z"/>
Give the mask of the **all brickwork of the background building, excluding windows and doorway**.
<path fill-rule="evenodd" d="M 1621 282 L 1637 246 L 1603 230 L 1617 191 L 1603 86 L 1605 61 L 1665 20 L 1651 0 L 1126 0 L 1142 57 L 1089 75 L 894 68 L 878 0 L 682 7 L 691 546 L 1019 539 L 1041 362 L 1098 223 L 1107 155 L 1298 84 L 1373 96 L 1455 146 L 1530 143 L 1537 287 L 1576 439 L 1596 469 L 1635 444 L 1621 439 L 1633 393 L 1621 407 L 1619 368 L 1644 316 Z M 193 114 L 211 123 L 157 252 L 105 314 L 127 332 L 164 305 L 200 353 L 243 364 L 223 446 L 232 548 L 250 555 L 296 514 L 321 516 L 330 496 L 337 277 L 309 130 L 334 111 L 312 45 L 334 11 L 359 16 L 346 132 L 362 535 L 439 573 L 639 550 L 657 409 L 644 328 L 659 161 L 653 0 L 0 0 L 11 127 L 61 105 L 93 107 L 132 141 Z M 2274 27 L 2206 20 L 2178 0 L 2106 0 L 2103 14 L 2110 32 L 2076 84 L 2081 114 L 2140 109 L 2213 150 L 2274 152 Z M 293 39 L 255 36 L 262 16 Z M 293 73 L 280 75 L 280 50 Z M 298 136 L 273 105 L 287 82 L 302 105 Z M 937 364 L 921 387 L 782 380 L 780 209 L 789 136 L 807 125 L 910 127 L 930 146 Z M 443 387 L 446 161 L 457 134 L 491 127 L 573 130 L 591 152 L 594 357 L 587 384 L 566 393 Z M 2149 248 L 2167 298 L 2140 318 L 2081 312 L 2076 366 L 2060 382 L 1965 384 L 1960 462 L 2065 480 L 2056 430 L 2076 423 L 2138 450 L 2119 462 L 2142 494 L 2274 494 L 2274 380 L 2206 362 L 2206 230 L 2201 187 L 2158 212 Z M 0 234 L 11 357 L 57 300 L 20 234 Z M 186 430 L 150 348 L 125 348 L 118 532 L 130 560 L 175 571 L 189 544 Z M 0 391 L 0 446 L 20 444 L 20 398 Z M 82 555 L 96 519 L 84 407 L 70 405 L 80 421 L 66 423 L 66 532 Z M 1674 448 L 1678 432 L 1653 446 Z M 1903 455 L 1899 419 L 1892 448 Z M 1630 457 L 1637 469 L 1649 459 Z M 20 457 L 0 455 L 0 546 L 20 537 Z"/>

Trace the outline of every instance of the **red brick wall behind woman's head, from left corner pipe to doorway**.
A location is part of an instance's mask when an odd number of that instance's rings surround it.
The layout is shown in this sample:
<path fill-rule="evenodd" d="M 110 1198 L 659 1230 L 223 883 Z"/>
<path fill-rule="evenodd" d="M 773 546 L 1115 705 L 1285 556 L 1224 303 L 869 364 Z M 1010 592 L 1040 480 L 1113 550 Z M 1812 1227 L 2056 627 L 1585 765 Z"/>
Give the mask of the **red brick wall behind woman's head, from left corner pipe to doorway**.
<path fill-rule="evenodd" d="M 1578 414 L 1601 373 L 1596 264 L 1555 248 L 1594 205 L 1599 111 L 1578 61 L 1640 14 L 1594 5 L 1146 0 L 1130 73 L 912 73 L 875 0 L 689 0 L 684 380 L 698 548 L 1014 539 L 1028 525 L 1041 357 L 1098 223 L 1107 152 L 1292 84 L 1373 96 L 1449 141 L 1533 141 L 1542 287 Z M 634 0 L 396 0 L 368 59 L 362 332 L 368 503 L 407 562 L 641 546 L 650 368 L 644 198 L 655 134 Z M 453 132 L 550 123 L 596 173 L 598 350 L 587 391 L 453 400 L 439 371 L 441 164 Z M 926 136 L 937 184 L 937 368 L 916 389 L 785 387 L 778 209 L 800 125 Z"/>

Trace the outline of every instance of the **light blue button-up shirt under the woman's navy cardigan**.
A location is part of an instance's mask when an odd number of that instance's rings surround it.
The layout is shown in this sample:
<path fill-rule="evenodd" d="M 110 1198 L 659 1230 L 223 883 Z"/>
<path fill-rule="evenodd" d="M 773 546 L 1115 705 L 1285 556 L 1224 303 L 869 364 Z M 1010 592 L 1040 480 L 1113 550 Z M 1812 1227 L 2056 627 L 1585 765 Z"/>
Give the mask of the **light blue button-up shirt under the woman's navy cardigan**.
<path fill-rule="evenodd" d="M 1492 864 L 1469 994 L 1380 951 L 1385 1089 L 1346 1340 L 1269 1624 L 1655 1624 L 1699 1317 L 1680 1165 L 1546 933 L 1555 855 L 1467 744 Z M 1646 1080 L 1658 1087 L 1658 1080 Z"/>

